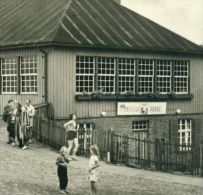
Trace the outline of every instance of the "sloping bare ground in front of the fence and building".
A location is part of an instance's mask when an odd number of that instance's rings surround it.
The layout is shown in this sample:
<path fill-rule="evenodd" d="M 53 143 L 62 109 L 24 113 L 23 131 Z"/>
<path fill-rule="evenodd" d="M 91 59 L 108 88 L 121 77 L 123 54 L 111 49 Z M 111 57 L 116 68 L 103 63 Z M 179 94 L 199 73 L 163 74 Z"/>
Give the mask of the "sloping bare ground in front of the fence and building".
<path fill-rule="evenodd" d="M 5 124 L 0 122 L 0 195 L 57 195 L 55 160 L 58 153 L 34 142 L 29 150 L 6 144 Z M 71 162 L 70 194 L 90 194 L 88 159 Z M 145 171 L 101 162 L 99 194 L 203 195 L 203 178 Z"/>

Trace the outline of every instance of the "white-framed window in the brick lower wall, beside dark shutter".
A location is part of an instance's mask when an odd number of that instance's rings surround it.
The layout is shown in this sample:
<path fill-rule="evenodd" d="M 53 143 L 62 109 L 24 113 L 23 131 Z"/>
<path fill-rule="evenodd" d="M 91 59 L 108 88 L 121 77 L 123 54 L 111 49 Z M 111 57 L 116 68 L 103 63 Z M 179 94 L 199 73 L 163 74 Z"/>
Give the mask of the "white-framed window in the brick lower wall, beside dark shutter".
<path fill-rule="evenodd" d="M 178 140 L 180 145 L 190 146 L 192 143 L 192 120 L 178 120 Z M 181 147 L 184 149 L 184 147 Z M 185 148 L 187 150 L 187 148 Z"/>

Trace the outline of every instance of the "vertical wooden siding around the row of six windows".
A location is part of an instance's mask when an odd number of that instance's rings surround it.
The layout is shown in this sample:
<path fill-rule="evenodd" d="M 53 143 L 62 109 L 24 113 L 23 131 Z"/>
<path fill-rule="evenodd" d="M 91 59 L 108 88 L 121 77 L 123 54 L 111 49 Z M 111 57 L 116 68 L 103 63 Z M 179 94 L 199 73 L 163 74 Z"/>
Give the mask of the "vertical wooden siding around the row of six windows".
<path fill-rule="evenodd" d="M 75 66 L 76 56 L 111 56 L 125 58 L 150 58 L 190 60 L 191 93 L 194 98 L 190 100 L 169 100 L 167 114 L 174 114 L 177 108 L 181 113 L 203 112 L 203 59 L 170 55 L 147 55 L 127 52 L 101 52 L 88 50 L 55 49 L 49 53 L 49 89 L 48 101 L 54 108 L 55 118 L 66 118 L 70 113 L 77 113 L 78 117 L 99 117 L 102 111 L 107 116 L 116 116 L 116 101 L 76 101 L 75 100 Z"/>

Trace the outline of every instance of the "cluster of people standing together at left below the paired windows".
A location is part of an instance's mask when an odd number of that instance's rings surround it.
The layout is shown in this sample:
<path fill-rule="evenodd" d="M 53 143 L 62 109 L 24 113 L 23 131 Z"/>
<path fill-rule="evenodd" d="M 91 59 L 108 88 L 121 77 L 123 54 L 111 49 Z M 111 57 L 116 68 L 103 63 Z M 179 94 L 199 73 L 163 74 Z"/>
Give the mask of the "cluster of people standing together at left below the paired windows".
<path fill-rule="evenodd" d="M 26 99 L 22 106 L 17 100 L 9 100 L 4 107 L 3 121 L 7 123 L 8 144 L 18 145 L 23 150 L 32 142 L 33 117 L 35 108 Z"/>

